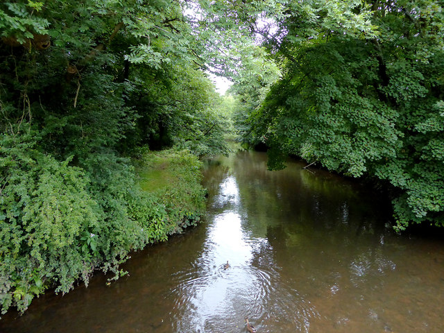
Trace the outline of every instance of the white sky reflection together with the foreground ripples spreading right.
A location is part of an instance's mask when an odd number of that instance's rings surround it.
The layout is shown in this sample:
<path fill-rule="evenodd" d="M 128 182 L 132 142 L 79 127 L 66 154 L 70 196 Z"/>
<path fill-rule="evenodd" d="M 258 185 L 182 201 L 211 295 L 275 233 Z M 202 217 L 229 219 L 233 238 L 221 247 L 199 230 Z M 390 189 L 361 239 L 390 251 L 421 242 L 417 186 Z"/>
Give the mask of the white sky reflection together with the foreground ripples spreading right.
<path fill-rule="evenodd" d="M 246 215 L 239 214 L 241 200 L 234 176 L 221 182 L 213 200 L 216 213 L 203 253 L 194 268 L 179 273 L 182 283 L 173 291 L 181 309 L 176 329 L 243 332 L 248 316 L 264 332 L 271 332 L 266 323 L 276 321 L 307 332 L 308 319 L 317 313 L 296 289 L 281 281 L 268 240 L 244 230 Z M 227 261 L 230 268 L 225 270 Z"/>

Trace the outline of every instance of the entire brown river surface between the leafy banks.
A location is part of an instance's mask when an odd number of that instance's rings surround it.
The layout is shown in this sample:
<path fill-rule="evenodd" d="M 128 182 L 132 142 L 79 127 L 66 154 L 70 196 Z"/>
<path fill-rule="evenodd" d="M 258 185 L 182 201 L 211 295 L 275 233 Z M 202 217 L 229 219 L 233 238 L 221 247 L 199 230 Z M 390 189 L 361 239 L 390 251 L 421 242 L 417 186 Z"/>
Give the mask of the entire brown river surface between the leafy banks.
<path fill-rule="evenodd" d="M 240 152 L 205 169 L 207 221 L 130 276 L 47 294 L 0 332 L 443 332 L 444 243 L 398 236 L 375 194 Z M 223 269 L 229 262 L 230 268 Z"/>

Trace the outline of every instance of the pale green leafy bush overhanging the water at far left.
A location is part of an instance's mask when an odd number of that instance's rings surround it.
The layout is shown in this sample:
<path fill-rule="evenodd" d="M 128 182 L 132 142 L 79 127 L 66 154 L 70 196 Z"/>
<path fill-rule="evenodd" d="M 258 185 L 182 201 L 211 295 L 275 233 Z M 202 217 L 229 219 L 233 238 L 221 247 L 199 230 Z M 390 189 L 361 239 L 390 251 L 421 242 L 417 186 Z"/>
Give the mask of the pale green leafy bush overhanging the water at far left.
<path fill-rule="evenodd" d="M 81 247 L 85 231 L 97 232 L 96 203 L 89 180 L 69 160 L 58 162 L 35 150 L 31 135 L 1 139 L 1 307 L 21 310 L 58 282 L 67 291 L 92 272 L 97 248 Z M 99 236 L 98 236 L 99 237 Z M 62 264 L 61 264 L 62 263 Z"/>

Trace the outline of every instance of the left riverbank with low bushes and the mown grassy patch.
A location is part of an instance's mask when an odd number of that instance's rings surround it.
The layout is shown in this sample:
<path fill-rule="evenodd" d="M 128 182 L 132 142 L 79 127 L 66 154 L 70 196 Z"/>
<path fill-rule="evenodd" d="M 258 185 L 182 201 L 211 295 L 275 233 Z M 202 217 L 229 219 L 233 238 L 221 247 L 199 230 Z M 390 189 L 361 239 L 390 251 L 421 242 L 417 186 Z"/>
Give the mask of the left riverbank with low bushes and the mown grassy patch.
<path fill-rule="evenodd" d="M 21 165 L 17 184 L 12 179 L 2 193 L 17 212 L 0 215 L 1 314 L 26 311 L 48 289 L 65 294 L 74 283 L 87 286 L 95 271 L 117 280 L 131 251 L 196 225 L 205 211 L 201 162 L 187 151 L 108 161 L 93 180 L 78 167 L 37 157 L 30 160 L 35 179 L 22 184 Z M 103 173 L 104 165 L 112 173 Z"/>

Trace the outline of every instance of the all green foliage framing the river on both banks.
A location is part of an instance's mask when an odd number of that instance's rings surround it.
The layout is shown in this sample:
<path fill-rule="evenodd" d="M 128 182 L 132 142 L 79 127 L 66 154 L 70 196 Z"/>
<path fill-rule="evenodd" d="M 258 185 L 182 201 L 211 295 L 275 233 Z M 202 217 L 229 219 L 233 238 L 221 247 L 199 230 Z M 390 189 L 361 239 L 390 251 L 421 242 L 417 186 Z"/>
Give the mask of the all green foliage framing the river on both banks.
<path fill-rule="evenodd" d="M 1 311 L 119 276 L 130 250 L 196 223 L 183 150 L 227 153 L 233 108 L 270 167 L 291 154 L 377 179 L 398 229 L 442 225 L 443 35 L 431 0 L 1 2 Z M 178 182 L 149 191 L 148 166 L 173 162 Z"/>

